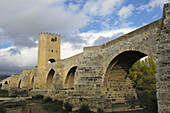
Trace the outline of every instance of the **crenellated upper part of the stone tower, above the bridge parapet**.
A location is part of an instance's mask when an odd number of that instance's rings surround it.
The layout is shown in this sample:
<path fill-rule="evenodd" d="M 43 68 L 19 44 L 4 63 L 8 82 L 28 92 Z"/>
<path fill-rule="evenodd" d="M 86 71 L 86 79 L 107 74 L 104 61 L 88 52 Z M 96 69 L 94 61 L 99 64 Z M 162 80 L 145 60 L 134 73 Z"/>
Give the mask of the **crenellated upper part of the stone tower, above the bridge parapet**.
<path fill-rule="evenodd" d="M 38 44 L 38 69 L 46 69 L 48 63 L 60 59 L 60 35 L 40 33 Z"/>

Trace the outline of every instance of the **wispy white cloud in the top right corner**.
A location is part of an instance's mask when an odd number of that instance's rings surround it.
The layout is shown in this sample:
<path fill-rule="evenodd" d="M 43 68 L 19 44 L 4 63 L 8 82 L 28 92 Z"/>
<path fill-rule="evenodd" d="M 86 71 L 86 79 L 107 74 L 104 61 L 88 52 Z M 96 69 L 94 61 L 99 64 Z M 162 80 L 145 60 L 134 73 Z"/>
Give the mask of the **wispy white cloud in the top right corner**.
<path fill-rule="evenodd" d="M 153 11 L 154 8 L 160 7 L 163 8 L 163 4 L 169 3 L 170 0 L 150 0 L 148 4 L 141 5 L 139 8 L 136 8 L 137 10 L 146 10 L 148 12 Z"/>

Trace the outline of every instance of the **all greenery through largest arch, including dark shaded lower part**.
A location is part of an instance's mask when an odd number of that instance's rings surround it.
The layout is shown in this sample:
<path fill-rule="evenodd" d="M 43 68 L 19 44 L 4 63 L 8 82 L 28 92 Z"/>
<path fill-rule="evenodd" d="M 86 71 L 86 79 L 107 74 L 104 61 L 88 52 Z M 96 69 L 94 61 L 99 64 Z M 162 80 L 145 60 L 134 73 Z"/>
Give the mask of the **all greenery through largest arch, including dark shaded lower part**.
<path fill-rule="evenodd" d="M 147 57 L 144 60 L 138 60 L 128 74 L 136 89 L 140 106 L 146 106 L 153 113 L 157 112 L 155 69 L 154 61 Z"/>

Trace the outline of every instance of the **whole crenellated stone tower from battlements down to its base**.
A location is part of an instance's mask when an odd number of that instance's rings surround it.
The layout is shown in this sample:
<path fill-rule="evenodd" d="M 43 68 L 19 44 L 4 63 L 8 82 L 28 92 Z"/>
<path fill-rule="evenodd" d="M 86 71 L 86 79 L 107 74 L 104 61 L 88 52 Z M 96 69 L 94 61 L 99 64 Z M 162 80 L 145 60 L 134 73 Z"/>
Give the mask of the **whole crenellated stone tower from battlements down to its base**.
<path fill-rule="evenodd" d="M 38 72 L 34 89 L 44 89 L 47 79 L 47 64 L 60 60 L 60 35 L 40 33 L 38 44 Z"/>

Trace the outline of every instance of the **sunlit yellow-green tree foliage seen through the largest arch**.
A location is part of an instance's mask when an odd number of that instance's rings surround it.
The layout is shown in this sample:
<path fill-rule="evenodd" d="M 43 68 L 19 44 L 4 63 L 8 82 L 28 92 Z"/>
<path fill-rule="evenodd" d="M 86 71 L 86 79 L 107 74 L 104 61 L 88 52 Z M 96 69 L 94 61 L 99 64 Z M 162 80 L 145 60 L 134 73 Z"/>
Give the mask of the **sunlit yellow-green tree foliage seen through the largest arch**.
<path fill-rule="evenodd" d="M 156 73 L 154 61 L 147 57 L 145 60 L 138 60 L 129 70 L 129 78 L 134 88 L 140 90 L 156 90 Z"/>

